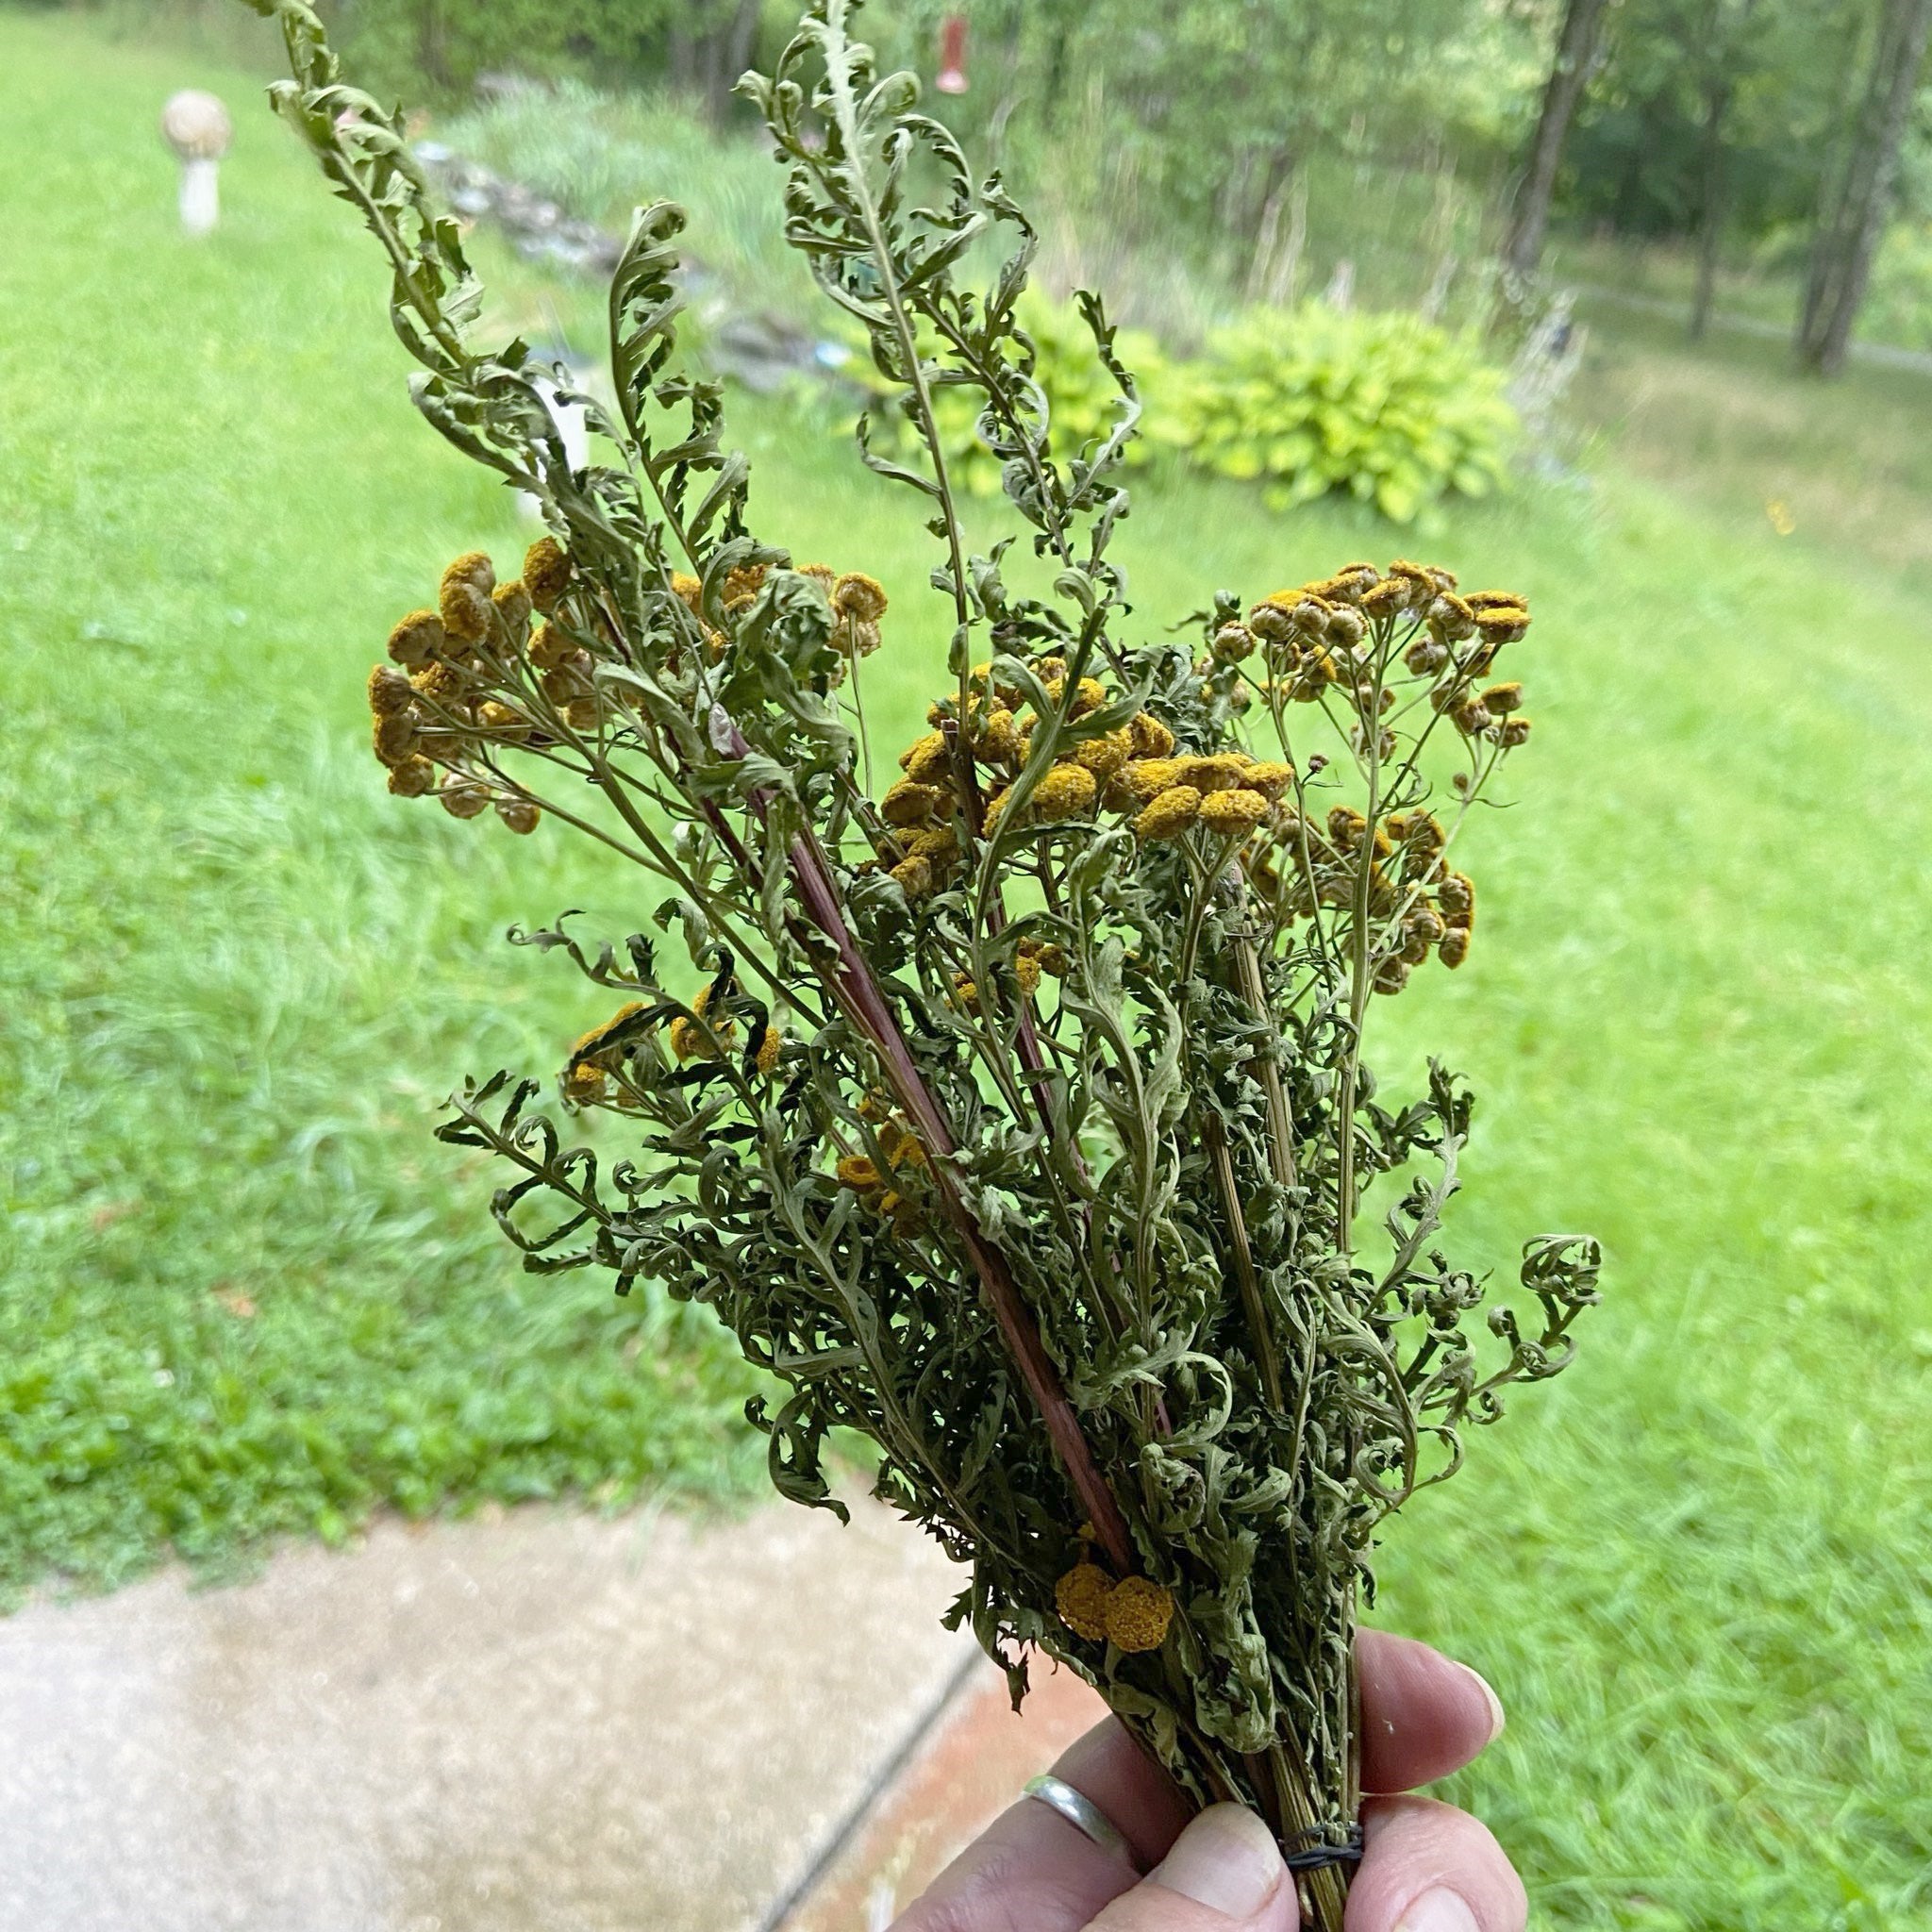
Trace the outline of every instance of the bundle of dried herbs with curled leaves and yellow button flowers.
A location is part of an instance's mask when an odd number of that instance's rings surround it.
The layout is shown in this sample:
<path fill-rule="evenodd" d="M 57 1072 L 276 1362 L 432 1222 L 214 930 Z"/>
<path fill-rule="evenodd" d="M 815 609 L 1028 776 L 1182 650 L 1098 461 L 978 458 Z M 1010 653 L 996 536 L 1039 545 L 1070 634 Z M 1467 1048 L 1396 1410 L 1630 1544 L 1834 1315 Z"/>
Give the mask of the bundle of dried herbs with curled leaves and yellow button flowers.
<path fill-rule="evenodd" d="M 817 0 L 746 87 L 788 238 L 923 450 L 866 460 L 923 500 L 951 618 L 951 682 L 881 790 L 852 697 L 885 593 L 862 556 L 753 535 L 719 390 L 674 367 L 680 213 L 638 216 L 616 413 L 570 398 L 605 460 L 572 469 L 539 388 L 562 371 L 477 344 L 400 116 L 340 81 L 299 0 L 249 4 L 288 39 L 278 110 L 388 251 L 417 406 L 553 531 L 518 582 L 458 558 L 396 626 L 369 682 L 390 790 L 568 823 L 668 887 L 676 945 L 512 935 L 622 997 L 558 1103 L 618 1115 L 632 1157 L 570 1146 L 508 1074 L 442 1136 L 514 1171 L 495 1211 L 526 1265 L 719 1312 L 788 1389 L 753 1416 L 786 1495 L 837 1509 L 827 1435 L 869 1435 L 877 1493 L 970 1567 L 954 1617 L 1016 1698 L 1043 1650 L 1194 1797 L 1347 1853 L 1376 1526 L 1503 1387 L 1565 1366 L 1596 1300 L 1592 1240 L 1534 1240 L 1534 1320 L 1495 1308 L 1478 1345 L 1484 1285 L 1435 1246 L 1470 1099 L 1435 1068 L 1393 1107 L 1360 1057 L 1378 995 L 1468 954 L 1451 848 L 1528 738 L 1495 670 L 1528 611 L 1349 564 L 1215 595 L 1198 641 L 1132 641 L 1107 553 L 1138 402 L 1101 303 L 1080 298 L 1117 417 L 1055 462 L 1014 313 L 1026 216 L 910 77 L 875 75 L 852 0 Z M 980 406 L 1049 595 L 1009 585 L 1007 545 L 968 549 L 947 388 Z M 1341 1924 L 1345 1870 L 1304 1874 L 1314 1924 Z"/>

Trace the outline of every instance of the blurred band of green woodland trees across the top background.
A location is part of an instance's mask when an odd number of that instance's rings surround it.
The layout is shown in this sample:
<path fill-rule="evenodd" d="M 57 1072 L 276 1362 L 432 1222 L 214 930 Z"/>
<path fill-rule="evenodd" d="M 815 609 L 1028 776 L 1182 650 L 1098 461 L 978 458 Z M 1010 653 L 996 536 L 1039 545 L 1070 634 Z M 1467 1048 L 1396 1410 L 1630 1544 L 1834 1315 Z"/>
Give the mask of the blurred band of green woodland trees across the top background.
<path fill-rule="evenodd" d="M 576 70 L 618 85 L 670 81 L 713 126 L 757 58 L 761 15 L 777 27 L 784 14 L 779 0 L 323 4 L 350 29 L 357 66 L 398 91 L 421 93 L 427 77 L 460 93 L 491 68 Z M 1540 265 L 1555 213 L 1685 238 L 1698 270 L 1690 328 L 1702 332 L 1733 238 L 1748 238 L 1760 261 L 1789 259 L 1812 230 L 1806 315 L 1830 334 L 1847 301 L 1857 307 L 1849 290 L 1870 270 L 1901 170 L 1909 87 L 1888 93 L 1882 75 L 1909 52 L 1901 23 L 1922 29 L 1928 8 L 869 0 L 866 31 L 883 64 L 931 83 L 941 25 L 964 14 L 974 87 L 929 93 L 931 110 L 1034 197 L 1049 278 L 1103 272 L 1121 249 L 1161 249 L 1179 294 L 1150 307 L 1165 301 L 1163 325 L 1182 334 L 1231 298 L 1291 299 L 1308 282 L 1304 251 L 1316 276 L 1343 259 L 1366 265 L 1372 299 L 1439 305 L 1459 257 L 1480 245 L 1476 211 L 1495 207 L 1511 153 L 1522 172 L 1497 226 L 1513 278 Z M 1418 172 L 1435 187 L 1430 214 Z M 1924 172 L 1932 180 L 1932 151 Z M 1405 294 L 1397 257 L 1418 247 L 1434 274 L 1418 272 Z"/>

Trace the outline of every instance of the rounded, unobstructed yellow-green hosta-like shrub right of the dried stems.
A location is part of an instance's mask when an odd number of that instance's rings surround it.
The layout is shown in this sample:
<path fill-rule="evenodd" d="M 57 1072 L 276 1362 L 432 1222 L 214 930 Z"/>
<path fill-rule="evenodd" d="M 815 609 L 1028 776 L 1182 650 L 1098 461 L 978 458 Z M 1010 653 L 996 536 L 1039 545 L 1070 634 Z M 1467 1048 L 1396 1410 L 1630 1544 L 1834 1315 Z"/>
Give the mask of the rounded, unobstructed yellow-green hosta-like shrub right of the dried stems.
<path fill-rule="evenodd" d="M 1501 388 L 1464 336 L 1310 301 L 1215 334 L 1163 433 L 1204 469 L 1265 481 L 1273 510 L 1343 493 L 1410 524 L 1503 483 L 1517 417 Z"/>

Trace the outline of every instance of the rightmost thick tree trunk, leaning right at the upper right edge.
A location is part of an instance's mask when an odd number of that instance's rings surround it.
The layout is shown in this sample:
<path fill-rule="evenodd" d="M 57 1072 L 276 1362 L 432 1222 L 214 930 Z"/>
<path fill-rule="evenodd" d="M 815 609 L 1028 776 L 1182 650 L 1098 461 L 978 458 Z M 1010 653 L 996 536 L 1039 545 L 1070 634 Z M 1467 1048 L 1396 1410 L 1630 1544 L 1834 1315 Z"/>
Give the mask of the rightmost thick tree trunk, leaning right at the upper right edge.
<path fill-rule="evenodd" d="M 1818 375 L 1837 375 L 1845 367 L 1872 259 L 1891 214 L 1899 149 L 1911 122 L 1928 33 L 1932 0 L 1888 0 L 1843 189 L 1832 218 L 1820 220 L 1812 243 L 1797 350 L 1799 361 Z"/>

